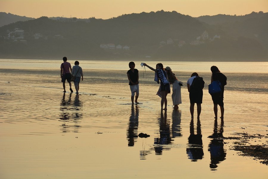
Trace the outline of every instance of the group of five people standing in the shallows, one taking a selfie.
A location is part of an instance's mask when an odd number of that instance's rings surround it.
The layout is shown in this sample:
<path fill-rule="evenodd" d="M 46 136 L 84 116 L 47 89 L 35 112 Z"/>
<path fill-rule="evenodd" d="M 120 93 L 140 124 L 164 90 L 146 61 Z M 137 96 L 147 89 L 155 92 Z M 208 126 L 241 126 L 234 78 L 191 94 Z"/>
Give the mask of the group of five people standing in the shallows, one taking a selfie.
<path fill-rule="evenodd" d="M 156 64 L 156 69 L 150 67 L 146 63 L 143 63 L 145 67 L 148 67 L 150 70 L 155 72 L 155 81 L 159 84 L 160 87 L 157 92 L 157 95 L 161 97 L 161 110 L 167 110 L 167 99 L 166 96 L 168 93 L 171 92 L 170 84 L 172 84 L 172 102 L 174 105 L 174 109 L 178 109 L 178 105 L 182 103 L 181 101 L 181 86 L 183 85 L 180 82 L 175 74 L 172 72 L 170 67 L 163 68 L 163 64 L 158 63 Z M 131 101 L 134 104 L 134 96 L 135 96 L 135 103 L 138 103 L 138 96 L 139 96 L 139 74 L 138 70 L 135 69 L 135 63 L 131 61 L 129 63 L 130 70 L 127 71 L 127 77 L 129 80 L 130 91 L 131 91 Z M 221 91 L 211 94 L 212 101 L 214 104 L 214 114 L 215 119 L 218 118 L 218 105 L 220 106 L 221 110 L 221 119 L 224 118 L 224 103 L 223 103 L 223 94 L 224 94 L 224 86 L 227 84 L 227 78 L 224 74 L 222 74 L 218 67 L 212 66 L 211 67 L 211 83 L 213 81 L 219 81 L 221 83 Z M 191 118 L 194 118 L 194 104 L 197 104 L 197 119 L 200 118 L 201 113 L 201 104 L 203 99 L 203 88 L 204 88 L 204 81 L 203 78 L 199 77 L 197 72 L 191 74 L 191 78 L 187 80 L 187 88 L 189 92 L 190 98 L 190 113 Z M 136 95 L 135 95 L 136 93 Z M 165 104 L 165 106 L 164 106 Z M 163 108 L 164 106 L 164 108 Z"/>

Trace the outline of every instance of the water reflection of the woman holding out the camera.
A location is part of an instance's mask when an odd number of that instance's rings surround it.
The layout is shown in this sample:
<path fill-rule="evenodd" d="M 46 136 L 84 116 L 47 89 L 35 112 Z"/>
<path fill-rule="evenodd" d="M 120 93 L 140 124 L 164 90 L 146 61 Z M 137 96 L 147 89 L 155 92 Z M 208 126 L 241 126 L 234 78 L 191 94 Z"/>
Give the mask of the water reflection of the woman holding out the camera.
<path fill-rule="evenodd" d="M 167 120 L 166 111 L 164 112 L 164 114 L 163 114 L 163 111 L 161 111 L 161 118 L 160 118 L 160 124 L 159 124 L 160 138 L 155 138 L 155 141 L 154 141 L 154 144 L 156 145 L 154 147 L 156 155 L 162 155 L 163 150 L 169 150 L 169 148 L 164 148 L 163 146 L 157 146 L 157 145 L 171 144 L 169 122 L 170 121 Z"/>

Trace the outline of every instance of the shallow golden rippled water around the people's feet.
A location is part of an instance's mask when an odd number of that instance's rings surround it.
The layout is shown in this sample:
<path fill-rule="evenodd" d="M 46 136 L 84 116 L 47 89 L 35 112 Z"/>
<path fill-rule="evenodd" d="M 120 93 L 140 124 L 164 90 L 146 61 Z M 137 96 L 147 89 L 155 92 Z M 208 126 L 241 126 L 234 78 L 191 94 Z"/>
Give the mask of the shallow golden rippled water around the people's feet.
<path fill-rule="evenodd" d="M 128 62 L 80 61 L 85 77 L 80 95 L 62 93 L 61 61 L 0 63 L 0 178 L 268 176 L 266 165 L 239 156 L 230 150 L 234 140 L 221 138 L 235 132 L 267 134 L 267 62 L 163 63 L 184 82 L 183 104 L 173 110 L 169 94 L 167 112 L 160 111 L 153 72 L 139 65 L 142 104 L 132 107 Z M 211 65 L 228 78 L 223 124 L 214 121 L 207 92 Z M 205 81 L 200 123 L 191 121 L 186 87 L 194 71 Z M 150 137 L 138 137 L 141 132 Z"/>

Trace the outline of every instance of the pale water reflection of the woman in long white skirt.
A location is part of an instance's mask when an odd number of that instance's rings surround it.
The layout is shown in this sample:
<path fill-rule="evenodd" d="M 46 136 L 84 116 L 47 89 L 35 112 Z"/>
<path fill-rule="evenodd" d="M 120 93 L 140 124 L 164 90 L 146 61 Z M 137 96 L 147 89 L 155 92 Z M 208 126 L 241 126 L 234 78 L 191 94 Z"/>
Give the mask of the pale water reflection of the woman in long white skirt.
<path fill-rule="evenodd" d="M 173 109 L 172 112 L 172 138 L 181 137 L 181 112 L 178 109 Z"/>

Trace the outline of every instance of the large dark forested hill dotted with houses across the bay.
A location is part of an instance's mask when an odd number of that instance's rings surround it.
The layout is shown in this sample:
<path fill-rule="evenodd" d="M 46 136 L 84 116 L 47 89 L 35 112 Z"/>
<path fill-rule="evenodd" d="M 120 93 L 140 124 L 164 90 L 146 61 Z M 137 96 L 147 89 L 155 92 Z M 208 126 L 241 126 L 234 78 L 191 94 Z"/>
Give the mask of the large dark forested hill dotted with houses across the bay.
<path fill-rule="evenodd" d="M 175 11 L 125 14 L 107 20 L 54 19 L 41 17 L 0 27 L 0 58 L 267 59 L 268 48 L 255 33 L 243 36 Z"/>

